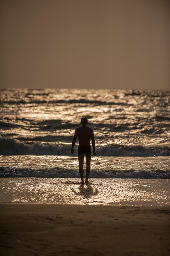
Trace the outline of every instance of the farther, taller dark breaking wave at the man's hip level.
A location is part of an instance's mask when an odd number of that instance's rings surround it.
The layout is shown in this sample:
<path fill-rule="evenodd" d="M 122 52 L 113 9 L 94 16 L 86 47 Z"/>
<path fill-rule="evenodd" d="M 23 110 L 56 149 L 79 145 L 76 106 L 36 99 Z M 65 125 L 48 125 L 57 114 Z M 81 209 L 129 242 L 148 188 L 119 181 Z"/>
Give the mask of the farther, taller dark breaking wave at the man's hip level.
<path fill-rule="evenodd" d="M 22 142 L 17 139 L 0 139 L 1 155 L 71 155 L 71 145 L 48 142 Z M 75 148 L 75 154 L 77 149 Z M 124 146 L 112 144 L 97 147 L 98 156 L 170 156 L 169 146 Z"/>

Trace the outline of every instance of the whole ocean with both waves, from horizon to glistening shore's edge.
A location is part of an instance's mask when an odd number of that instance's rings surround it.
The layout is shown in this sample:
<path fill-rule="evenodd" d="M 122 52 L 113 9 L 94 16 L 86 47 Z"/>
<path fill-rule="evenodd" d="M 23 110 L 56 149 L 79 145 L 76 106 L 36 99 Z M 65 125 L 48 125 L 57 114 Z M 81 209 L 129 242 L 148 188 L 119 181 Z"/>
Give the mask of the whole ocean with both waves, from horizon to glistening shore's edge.
<path fill-rule="evenodd" d="M 0 91 L 0 177 L 79 177 L 82 116 L 93 128 L 91 178 L 170 178 L 170 91 Z"/>

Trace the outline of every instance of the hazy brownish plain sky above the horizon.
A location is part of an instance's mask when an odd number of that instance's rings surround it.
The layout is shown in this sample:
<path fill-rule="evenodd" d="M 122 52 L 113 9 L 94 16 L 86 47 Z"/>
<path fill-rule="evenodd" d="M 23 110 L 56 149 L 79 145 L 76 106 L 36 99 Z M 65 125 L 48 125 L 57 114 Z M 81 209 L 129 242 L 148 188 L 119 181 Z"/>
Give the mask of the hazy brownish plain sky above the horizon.
<path fill-rule="evenodd" d="M 1 0 L 1 88 L 170 89 L 170 0 Z"/>

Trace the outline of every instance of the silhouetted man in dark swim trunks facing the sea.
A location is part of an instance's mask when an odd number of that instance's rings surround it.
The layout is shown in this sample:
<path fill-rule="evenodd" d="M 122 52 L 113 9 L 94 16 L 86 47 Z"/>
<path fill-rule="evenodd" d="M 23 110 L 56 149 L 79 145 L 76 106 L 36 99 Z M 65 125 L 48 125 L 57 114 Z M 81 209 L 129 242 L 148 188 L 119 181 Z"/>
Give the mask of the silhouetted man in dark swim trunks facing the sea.
<path fill-rule="evenodd" d="M 72 146 L 71 146 L 71 154 L 74 154 L 74 145 L 75 145 L 76 138 L 78 136 L 79 175 L 82 180 L 82 184 L 84 184 L 84 177 L 83 177 L 84 154 L 86 155 L 86 180 L 85 180 L 86 184 L 88 184 L 88 176 L 91 171 L 91 141 L 92 141 L 92 147 L 93 147 L 93 155 L 96 155 L 94 132 L 93 132 L 93 129 L 87 127 L 87 123 L 88 123 L 87 117 L 82 117 L 81 119 L 82 126 L 75 129 L 75 134 L 74 134 Z"/>

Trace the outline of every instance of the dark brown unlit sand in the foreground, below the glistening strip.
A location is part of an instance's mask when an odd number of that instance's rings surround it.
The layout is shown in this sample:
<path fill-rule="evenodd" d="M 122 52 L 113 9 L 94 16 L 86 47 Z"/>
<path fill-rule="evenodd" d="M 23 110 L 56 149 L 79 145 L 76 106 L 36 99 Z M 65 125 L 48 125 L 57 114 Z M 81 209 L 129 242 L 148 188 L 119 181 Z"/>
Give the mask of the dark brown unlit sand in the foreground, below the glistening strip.
<path fill-rule="evenodd" d="M 0 203 L 1 255 L 169 255 L 170 207 Z"/>

